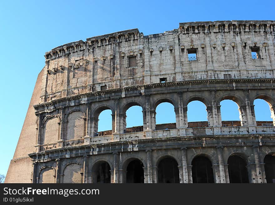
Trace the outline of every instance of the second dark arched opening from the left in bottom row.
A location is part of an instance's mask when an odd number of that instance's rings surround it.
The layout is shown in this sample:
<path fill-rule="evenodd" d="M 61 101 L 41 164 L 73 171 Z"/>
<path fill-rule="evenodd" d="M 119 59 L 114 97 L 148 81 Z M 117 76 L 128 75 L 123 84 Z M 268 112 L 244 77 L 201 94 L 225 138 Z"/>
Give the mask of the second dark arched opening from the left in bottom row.
<path fill-rule="evenodd" d="M 143 163 L 139 159 L 134 159 L 128 164 L 126 183 L 144 183 Z"/>

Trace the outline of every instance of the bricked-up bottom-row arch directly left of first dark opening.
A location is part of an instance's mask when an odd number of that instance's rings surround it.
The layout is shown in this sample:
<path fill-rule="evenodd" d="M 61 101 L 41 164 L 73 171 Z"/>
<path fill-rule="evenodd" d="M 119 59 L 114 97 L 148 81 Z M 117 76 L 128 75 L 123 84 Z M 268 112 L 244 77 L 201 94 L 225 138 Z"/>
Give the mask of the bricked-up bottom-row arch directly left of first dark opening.
<path fill-rule="evenodd" d="M 63 183 L 83 183 L 83 168 L 79 163 L 67 163 L 62 174 Z"/>

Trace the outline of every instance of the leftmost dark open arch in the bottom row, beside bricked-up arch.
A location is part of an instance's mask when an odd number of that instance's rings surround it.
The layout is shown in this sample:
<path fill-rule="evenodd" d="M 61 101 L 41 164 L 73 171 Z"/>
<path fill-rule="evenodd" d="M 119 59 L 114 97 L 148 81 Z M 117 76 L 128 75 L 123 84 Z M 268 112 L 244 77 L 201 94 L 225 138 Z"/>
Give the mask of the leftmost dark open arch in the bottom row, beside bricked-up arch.
<path fill-rule="evenodd" d="M 99 162 L 96 167 L 97 183 L 111 183 L 111 168 L 107 162 Z"/>

